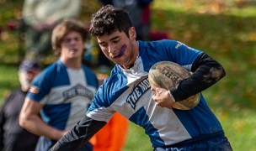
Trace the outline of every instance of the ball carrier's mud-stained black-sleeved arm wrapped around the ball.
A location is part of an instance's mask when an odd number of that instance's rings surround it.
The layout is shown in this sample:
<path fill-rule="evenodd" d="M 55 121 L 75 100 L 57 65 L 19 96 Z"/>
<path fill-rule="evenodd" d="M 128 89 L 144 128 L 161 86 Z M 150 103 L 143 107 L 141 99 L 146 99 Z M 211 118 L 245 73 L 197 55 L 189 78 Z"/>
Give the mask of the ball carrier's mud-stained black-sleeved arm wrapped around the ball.
<path fill-rule="evenodd" d="M 195 60 L 192 71 L 194 74 L 191 77 L 180 81 L 178 86 L 170 90 L 176 102 L 204 91 L 226 75 L 222 65 L 205 54 L 201 54 Z"/>

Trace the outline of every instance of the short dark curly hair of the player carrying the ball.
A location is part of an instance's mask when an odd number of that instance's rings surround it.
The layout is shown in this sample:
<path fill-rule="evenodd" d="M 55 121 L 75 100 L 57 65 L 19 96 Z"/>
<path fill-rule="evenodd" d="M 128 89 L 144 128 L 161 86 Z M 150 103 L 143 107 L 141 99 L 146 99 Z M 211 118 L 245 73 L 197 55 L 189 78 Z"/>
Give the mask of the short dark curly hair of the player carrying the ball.
<path fill-rule="evenodd" d="M 125 10 L 115 8 L 112 5 L 106 5 L 100 8 L 98 12 L 93 13 L 89 33 L 96 37 L 112 34 L 119 30 L 120 32 L 124 31 L 129 37 L 131 26 L 131 18 Z"/>

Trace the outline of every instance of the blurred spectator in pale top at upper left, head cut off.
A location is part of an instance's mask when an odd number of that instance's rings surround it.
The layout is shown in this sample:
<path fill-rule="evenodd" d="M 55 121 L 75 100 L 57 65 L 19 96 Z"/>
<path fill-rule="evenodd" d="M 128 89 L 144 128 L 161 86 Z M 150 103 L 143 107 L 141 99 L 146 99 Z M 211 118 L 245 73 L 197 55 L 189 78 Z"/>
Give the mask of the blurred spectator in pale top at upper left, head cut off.
<path fill-rule="evenodd" d="M 25 0 L 25 55 L 43 59 L 51 50 L 52 29 L 64 18 L 79 17 L 80 11 L 80 0 Z"/>

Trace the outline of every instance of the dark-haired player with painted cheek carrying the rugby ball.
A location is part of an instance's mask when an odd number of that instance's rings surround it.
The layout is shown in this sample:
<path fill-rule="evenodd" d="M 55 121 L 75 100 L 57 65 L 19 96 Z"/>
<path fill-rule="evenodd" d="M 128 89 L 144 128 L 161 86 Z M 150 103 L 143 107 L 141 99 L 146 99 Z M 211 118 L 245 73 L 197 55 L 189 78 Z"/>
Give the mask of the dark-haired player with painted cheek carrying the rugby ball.
<path fill-rule="evenodd" d="M 154 150 L 232 150 L 221 123 L 202 95 L 193 109 L 173 108 L 175 102 L 220 81 L 226 75 L 221 64 L 176 40 L 136 41 L 128 14 L 110 5 L 93 14 L 89 31 L 116 65 L 93 97 L 86 115 L 51 151 L 80 148 L 115 112 L 144 128 Z M 148 70 L 166 60 L 184 66 L 193 75 L 170 90 L 150 87 Z"/>

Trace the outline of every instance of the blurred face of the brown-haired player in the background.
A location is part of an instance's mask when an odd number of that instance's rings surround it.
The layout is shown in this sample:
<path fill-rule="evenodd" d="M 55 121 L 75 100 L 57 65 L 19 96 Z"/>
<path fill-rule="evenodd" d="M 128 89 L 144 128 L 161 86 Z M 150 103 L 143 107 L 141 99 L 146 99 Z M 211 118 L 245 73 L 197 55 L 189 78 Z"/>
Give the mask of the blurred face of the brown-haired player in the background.
<path fill-rule="evenodd" d="M 82 58 L 84 43 L 81 34 L 70 32 L 61 43 L 62 59 Z"/>

